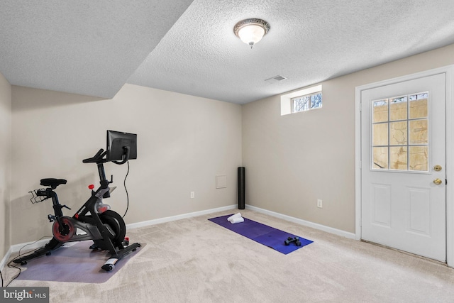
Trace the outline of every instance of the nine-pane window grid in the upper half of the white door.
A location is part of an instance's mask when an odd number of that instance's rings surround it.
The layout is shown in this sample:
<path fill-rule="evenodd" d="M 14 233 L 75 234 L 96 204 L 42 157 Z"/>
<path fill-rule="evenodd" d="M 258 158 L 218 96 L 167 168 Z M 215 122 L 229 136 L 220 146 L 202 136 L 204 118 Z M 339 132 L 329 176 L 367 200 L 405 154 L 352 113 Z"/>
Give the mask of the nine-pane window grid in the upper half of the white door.
<path fill-rule="evenodd" d="M 372 170 L 428 171 L 428 92 L 372 101 Z"/>

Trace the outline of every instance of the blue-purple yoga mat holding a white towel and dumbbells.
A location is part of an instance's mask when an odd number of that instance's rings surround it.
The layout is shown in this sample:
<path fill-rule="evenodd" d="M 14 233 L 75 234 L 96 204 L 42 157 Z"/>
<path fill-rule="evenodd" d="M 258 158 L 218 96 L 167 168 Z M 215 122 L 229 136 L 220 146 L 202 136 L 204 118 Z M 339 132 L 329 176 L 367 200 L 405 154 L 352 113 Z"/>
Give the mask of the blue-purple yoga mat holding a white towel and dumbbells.
<path fill-rule="evenodd" d="M 227 218 L 229 216 L 231 216 L 231 214 L 228 214 L 227 216 L 218 216 L 216 218 L 211 218 L 209 219 L 209 221 L 230 229 L 231 231 L 235 231 L 241 236 L 250 238 L 255 242 L 263 244 L 264 246 L 273 248 L 279 251 L 279 253 L 284 253 L 284 255 L 287 255 L 287 253 L 292 253 L 292 251 L 314 242 L 244 217 L 244 222 L 231 224 L 229 221 L 227 221 Z M 301 242 L 301 246 L 296 246 L 295 243 L 290 243 L 289 246 L 286 246 L 284 241 L 289 237 L 298 237 L 299 241 Z"/>

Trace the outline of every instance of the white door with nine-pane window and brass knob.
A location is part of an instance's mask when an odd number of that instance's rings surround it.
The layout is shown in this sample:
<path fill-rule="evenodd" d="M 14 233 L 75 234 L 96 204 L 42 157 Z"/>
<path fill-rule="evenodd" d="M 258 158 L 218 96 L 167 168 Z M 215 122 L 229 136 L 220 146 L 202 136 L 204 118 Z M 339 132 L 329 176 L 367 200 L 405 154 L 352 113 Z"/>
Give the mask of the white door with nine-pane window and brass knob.
<path fill-rule="evenodd" d="M 446 260 L 445 74 L 361 92 L 362 239 Z"/>

